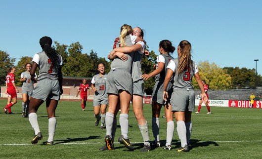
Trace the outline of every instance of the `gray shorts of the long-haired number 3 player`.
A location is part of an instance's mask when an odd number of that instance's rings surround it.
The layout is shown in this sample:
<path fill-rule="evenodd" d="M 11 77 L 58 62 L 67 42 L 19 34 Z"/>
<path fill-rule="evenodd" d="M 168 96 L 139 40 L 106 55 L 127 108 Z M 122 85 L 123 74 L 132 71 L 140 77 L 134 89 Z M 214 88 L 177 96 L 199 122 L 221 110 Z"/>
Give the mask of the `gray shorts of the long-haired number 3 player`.
<path fill-rule="evenodd" d="M 195 111 L 195 91 L 193 89 L 174 89 L 171 96 L 172 111 Z"/>

